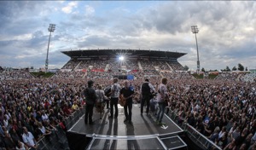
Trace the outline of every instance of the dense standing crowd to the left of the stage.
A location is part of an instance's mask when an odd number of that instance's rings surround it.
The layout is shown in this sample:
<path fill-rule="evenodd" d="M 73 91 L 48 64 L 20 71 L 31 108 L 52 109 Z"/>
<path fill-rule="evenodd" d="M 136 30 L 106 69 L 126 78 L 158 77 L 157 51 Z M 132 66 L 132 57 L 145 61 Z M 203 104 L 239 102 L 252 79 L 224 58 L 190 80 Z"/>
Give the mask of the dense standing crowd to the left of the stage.
<path fill-rule="evenodd" d="M 76 79 L 22 78 L 1 80 L 0 147 L 36 148 L 57 126 L 84 105 L 84 84 Z"/>

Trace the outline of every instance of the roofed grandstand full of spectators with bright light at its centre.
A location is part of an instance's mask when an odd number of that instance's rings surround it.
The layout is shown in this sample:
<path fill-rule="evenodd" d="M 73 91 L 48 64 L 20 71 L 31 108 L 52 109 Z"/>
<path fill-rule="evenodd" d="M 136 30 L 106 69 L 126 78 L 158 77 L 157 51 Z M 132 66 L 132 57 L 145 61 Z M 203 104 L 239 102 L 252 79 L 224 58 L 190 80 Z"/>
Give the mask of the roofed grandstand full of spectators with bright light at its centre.
<path fill-rule="evenodd" d="M 71 59 L 57 76 L 74 78 L 112 78 L 132 75 L 134 78 L 160 78 L 168 73 L 184 72 L 177 61 L 185 53 L 143 49 L 88 49 L 62 51 Z M 124 60 L 119 60 L 123 57 Z M 84 73 L 83 73 L 84 72 Z M 166 74 L 167 73 L 167 74 Z"/>

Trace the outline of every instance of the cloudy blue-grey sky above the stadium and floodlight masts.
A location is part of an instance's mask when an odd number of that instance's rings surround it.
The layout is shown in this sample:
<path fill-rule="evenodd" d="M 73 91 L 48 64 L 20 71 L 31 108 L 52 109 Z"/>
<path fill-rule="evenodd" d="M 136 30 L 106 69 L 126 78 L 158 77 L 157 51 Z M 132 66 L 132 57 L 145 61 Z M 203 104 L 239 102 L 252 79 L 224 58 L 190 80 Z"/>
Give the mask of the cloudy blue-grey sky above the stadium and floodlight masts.
<path fill-rule="evenodd" d="M 0 66 L 61 68 L 70 49 L 155 49 L 187 53 L 196 70 L 256 68 L 253 1 L 0 1 Z"/>

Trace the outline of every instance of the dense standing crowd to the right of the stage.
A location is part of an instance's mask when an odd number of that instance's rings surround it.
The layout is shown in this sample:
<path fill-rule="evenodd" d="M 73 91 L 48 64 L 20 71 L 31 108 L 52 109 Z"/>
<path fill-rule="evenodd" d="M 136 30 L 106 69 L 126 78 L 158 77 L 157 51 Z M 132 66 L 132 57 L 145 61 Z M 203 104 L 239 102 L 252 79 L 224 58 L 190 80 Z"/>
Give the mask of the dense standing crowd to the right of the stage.
<path fill-rule="evenodd" d="M 250 138 L 249 145 L 253 145 L 250 134 L 256 134 L 255 83 L 173 80 L 169 89 L 171 110 L 177 114 L 180 124 L 191 124 L 223 148 L 231 141 L 241 147 L 247 142 L 246 138 Z"/>

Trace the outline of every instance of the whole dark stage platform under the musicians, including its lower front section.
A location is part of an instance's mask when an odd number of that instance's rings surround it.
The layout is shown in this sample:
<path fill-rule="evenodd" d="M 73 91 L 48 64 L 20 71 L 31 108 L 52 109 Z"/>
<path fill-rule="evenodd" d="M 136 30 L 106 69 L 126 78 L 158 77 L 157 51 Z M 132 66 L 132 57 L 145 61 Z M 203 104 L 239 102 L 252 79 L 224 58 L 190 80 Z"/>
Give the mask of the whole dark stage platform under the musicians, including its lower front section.
<path fill-rule="evenodd" d="M 70 141 L 74 140 L 74 135 L 79 135 L 81 137 L 79 141 L 85 140 L 86 146 L 80 149 L 186 149 L 187 147 L 179 137 L 183 134 L 183 130 L 167 115 L 164 115 L 162 120 L 166 125 L 162 126 L 155 123 L 154 113 L 142 115 L 137 104 L 132 107 L 133 124 L 124 123 L 123 107 L 119 106 L 118 118 L 108 118 L 108 115 L 108 109 L 102 114 L 94 113 L 95 124 L 84 124 L 83 115 L 68 130 L 68 135 L 72 136 L 67 138 Z"/>

